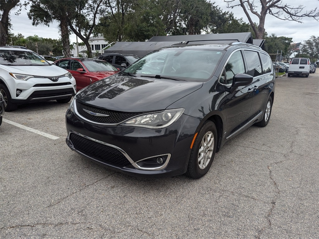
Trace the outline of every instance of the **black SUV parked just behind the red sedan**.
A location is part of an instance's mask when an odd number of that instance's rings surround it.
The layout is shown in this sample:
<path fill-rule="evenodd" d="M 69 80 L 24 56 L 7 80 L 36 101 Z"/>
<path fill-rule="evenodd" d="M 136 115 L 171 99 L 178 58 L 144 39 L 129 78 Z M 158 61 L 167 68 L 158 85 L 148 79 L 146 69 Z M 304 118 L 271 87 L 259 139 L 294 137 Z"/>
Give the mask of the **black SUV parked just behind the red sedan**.
<path fill-rule="evenodd" d="M 132 54 L 110 53 L 100 55 L 99 59 L 106 61 L 115 66 L 116 68 L 122 70 L 128 67 L 130 64 L 136 62 L 139 59 L 139 57 L 137 55 Z"/>

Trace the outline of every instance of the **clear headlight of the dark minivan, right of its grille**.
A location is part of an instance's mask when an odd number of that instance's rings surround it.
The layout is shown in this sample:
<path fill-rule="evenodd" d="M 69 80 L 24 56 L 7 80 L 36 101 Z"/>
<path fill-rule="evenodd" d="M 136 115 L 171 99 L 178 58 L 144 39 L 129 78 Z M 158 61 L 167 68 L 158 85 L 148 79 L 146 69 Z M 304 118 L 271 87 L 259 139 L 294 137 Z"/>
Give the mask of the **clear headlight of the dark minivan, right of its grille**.
<path fill-rule="evenodd" d="M 184 108 L 165 110 L 163 112 L 148 113 L 134 117 L 122 123 L 124 126 L 162 129 L 173 124 L 184 112 Z"/>

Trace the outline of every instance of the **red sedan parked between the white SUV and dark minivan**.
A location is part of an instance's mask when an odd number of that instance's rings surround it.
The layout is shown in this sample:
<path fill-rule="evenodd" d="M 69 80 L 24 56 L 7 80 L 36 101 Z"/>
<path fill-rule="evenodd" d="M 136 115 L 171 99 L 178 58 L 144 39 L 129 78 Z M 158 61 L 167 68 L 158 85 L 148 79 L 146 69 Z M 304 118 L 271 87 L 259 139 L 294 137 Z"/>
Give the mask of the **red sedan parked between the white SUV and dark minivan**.
<path fill-rule="evenodd" d="M 85 86 L 119 72 L 119 69 L 110 63 L 92 58 L 63 58 L 54 64 L 70 71 L 75 78 L 77 92 Z"/>

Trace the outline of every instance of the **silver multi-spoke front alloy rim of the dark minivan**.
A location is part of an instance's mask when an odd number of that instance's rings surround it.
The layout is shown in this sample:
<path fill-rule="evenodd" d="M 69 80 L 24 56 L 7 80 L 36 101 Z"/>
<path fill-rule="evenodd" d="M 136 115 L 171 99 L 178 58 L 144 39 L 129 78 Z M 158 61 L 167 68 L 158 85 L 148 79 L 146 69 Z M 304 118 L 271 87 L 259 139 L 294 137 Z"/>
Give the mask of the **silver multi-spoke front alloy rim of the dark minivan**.
<path fill-rule="evenodd" d="M 209 131 L 204 135 L 198 150 L 198 166 L 200 169 L 206 168 L 206 166 L 211 160 L 213 150 L 214 134 L 211 131 Z"/>

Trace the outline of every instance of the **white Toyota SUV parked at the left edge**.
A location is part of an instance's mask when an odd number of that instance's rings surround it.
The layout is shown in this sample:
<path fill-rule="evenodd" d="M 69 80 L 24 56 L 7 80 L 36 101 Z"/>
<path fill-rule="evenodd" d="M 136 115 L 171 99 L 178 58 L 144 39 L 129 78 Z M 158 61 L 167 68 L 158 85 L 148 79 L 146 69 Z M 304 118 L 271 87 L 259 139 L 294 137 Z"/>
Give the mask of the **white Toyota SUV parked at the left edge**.
<path fill-rule="evenodd" d="M 27 102 L 67 103 L 76 94 L 75 79 L 67 70 L 48 63 L 25 47 L 0 47 L 0 92 L 5 111 Z"/>

